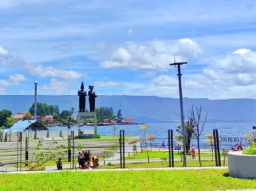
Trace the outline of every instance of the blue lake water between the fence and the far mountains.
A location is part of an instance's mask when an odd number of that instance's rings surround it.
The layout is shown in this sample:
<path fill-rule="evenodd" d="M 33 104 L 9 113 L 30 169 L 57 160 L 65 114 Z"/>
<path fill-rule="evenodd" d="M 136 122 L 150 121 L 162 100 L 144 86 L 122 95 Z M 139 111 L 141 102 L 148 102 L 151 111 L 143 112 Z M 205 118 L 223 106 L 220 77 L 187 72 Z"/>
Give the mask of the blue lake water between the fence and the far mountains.
<path fill-rule="evenodd" d="M 160 145 L 163 139 L 168 138 L 168 129 L 172 129 L 174 134 L 176 133 L 176 126 L 179 123 L 147 123 L 149 124 L 146 134 L 156 135 L 155 142 Z M 242 138 L 242 143 L 245 145 L 244 136 L 247 133 L 252 133 L 252 126 L 256 125 L 253 122 L 207 122 L 205 123 L 204 130 L 202 132 L 202 139 L 204 139 L 204 134 L 213 134 L 213 129 L 218 129 L 219 137 L 232 137 L 233 140 L 224 140 L 222 145 L 235 145 L 236 142 L 240 142 Z M 139 125 L 116 125 L 116 135 L 119 134 L 119 130 L 125 131 L 125 136 L 143 136 L 145 131 L 141 130 Z M 66 127 L 51 127 L 50 130 L 66 130 Z M 78 129 L 77 126 L 71 127 L 71 129 Z M 93 129 L 93 127 L 83 126 L 81 130 Z M 98 134 L 101 136 L 113 136 L 113 126 L 98 126 Z M 237 139 L 234 139 L 237 138 Z M 193 141 L 194 142 L 194 141 Z M 204 141 L 203 141 L 204 142 Z"/>

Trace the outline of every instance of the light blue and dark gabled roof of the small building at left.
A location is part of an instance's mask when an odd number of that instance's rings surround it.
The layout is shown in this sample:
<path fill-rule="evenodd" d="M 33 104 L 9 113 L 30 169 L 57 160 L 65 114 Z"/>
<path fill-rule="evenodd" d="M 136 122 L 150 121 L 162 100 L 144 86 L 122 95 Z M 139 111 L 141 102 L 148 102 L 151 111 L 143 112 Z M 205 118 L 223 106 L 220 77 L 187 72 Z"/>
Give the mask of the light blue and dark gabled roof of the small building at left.
<path fill-rule="evenodd" d="M 49 130 L 43 123 L 38 120 L 20 120 L 8 129 L 11 132 L 21 132 L 25 130 Z"/>

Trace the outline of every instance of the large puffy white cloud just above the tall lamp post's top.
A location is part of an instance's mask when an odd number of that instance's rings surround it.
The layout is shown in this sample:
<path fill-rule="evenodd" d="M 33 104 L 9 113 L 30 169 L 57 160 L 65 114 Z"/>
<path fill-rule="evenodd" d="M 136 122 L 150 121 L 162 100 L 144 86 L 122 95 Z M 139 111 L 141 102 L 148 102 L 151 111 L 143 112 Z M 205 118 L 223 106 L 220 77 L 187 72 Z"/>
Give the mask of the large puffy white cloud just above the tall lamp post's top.
<path fill-rule="evenodd" d="M 153 40 L 144 43 L 127 41 L 125 46 L 113 51 L 111 59 L 100 63 L 102 68 L 130 70 L 166 70 L 173 61 L 187 61 L 201 53 L 200 46 L 190 39 Z"/>

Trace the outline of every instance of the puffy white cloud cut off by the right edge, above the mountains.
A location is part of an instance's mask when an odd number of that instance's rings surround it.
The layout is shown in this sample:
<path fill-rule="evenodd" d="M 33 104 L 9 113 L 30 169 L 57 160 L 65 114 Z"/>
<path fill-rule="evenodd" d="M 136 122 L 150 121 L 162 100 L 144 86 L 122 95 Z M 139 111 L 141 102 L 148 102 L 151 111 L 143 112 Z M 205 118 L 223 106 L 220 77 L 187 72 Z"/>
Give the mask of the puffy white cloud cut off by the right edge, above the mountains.
<path fill-rule="evenodd" d="M 256 83 L 256 51 L 238 49 L 224 58 L 216 59 L 203 75 L 219 86 L 247 86 Z"/>

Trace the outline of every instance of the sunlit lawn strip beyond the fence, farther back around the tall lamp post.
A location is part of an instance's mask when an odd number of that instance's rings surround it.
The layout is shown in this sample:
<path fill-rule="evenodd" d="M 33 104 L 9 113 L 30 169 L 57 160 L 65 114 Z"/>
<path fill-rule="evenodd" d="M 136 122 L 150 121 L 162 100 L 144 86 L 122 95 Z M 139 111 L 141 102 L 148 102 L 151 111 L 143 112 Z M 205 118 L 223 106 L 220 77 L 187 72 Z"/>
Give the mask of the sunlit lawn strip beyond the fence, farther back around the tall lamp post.
<path fill-rule="evenodd" d="M 168 151 L 149 151 L 150 158 L 169 158 Z M 147 151 L 144 150 L 142 153 L 138 152 L 137 154 L 131 153 L 130 156 L 126 157 L 127 160 L 134 160 L 134 159 L 146 159 L 147 157 Z M 181 158 L 181 154 L 179 154 L 177 151 L 174 152 L 174 158 Z M 191 155 L 187 155 L 187 158 L 192 158 Z M 198 158 L 198 154 L 196 155 L 196 158 Z M 201 158 L 212 158 L 211 153 L 201 153 Z M 213 158 L 214 159 L 214 158 Z"/>

